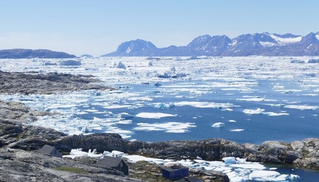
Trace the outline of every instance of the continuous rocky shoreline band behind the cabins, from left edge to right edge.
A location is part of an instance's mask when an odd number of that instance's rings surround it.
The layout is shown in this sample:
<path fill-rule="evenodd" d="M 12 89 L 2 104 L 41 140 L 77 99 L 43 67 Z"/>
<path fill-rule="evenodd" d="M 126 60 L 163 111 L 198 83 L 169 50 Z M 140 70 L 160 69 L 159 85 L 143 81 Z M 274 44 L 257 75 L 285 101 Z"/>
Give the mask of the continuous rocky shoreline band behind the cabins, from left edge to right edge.
<path fill-rule="evenodd" d="M 37 126 L 23 125 L 38 114 L 26 106 L 13 102 L 0 102 L 0 146 L 12 149 L 37 150 L 44 144 L 63 152 L 82 148 L 98 152 L 118 150 L 129 154 L 143 154 L 159 158 L 195 158 L 220 160 L 226 156 L 247 158 L 248 161 L 275 164 L 293 164 L 298 167 L 319 169 L 319 138 L 307 138 L 291 143 L 266 141 L 261 145 L 239 144 L 221 138 L 206 140 L 140 142 L 122 139 L 114 133 L 72 135 Z M 3 111 L 4 110 L 4 111 Z M 9 111 L 11 113 L 8 113 Z"/>

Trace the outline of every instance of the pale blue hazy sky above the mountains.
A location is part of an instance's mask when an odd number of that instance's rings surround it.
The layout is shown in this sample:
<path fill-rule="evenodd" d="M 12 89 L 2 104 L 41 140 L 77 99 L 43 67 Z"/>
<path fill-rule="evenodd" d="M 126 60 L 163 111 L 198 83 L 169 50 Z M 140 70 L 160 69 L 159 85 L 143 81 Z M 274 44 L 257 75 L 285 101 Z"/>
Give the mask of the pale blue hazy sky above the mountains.
<path fill-rule="evenodd" d="M 137 38 L 157 47 L 199 35 L 319 31 L 319 0 L 0 0 L 0 49 L 76 55 Z"/>

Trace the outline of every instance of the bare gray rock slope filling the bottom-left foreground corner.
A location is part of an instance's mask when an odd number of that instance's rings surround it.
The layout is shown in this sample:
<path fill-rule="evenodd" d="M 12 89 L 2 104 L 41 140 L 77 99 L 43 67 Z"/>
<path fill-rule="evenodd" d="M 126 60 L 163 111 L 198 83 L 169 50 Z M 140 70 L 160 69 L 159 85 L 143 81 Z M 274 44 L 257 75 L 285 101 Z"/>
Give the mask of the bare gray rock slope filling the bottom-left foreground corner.
<path fill-rule="evenodd" d="M 85 162 L 46 156 L 37 152 L 0 148 L 0 181 L 138 182 L 123 172 Z"/>

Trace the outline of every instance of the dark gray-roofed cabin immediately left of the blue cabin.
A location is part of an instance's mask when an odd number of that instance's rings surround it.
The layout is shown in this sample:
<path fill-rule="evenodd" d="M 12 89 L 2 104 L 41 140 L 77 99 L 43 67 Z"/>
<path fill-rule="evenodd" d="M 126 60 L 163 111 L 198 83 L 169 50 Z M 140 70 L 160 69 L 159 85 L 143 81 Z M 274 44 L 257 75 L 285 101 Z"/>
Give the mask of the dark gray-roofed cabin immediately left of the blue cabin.
<path fill-rule="evenodd" d="M 104 156 L 102 160 L 98 160 L 96 164 L 104 167 L 111 167 L 123 172 L 125 175 L 129 175 L 129 166 L 122 158 Z"/>

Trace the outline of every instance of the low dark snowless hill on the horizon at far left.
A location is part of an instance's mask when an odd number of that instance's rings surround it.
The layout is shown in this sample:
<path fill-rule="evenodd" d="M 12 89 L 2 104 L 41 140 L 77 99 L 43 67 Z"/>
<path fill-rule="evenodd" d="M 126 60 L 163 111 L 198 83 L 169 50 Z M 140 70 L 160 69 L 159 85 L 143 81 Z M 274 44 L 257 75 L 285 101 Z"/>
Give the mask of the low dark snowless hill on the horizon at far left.
<path fill-rule="evenodd" d="M 75 55 L 65 52 L 55 52 L 38 49 L 7 49 L 0 50 L 0 59 L 20 59 L 20 58 L 73 58 Z"/>

